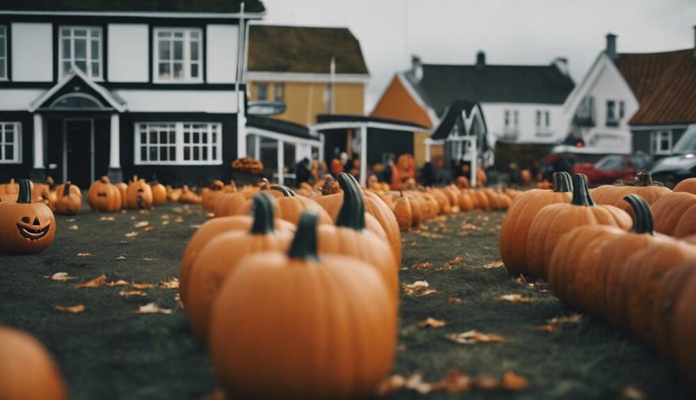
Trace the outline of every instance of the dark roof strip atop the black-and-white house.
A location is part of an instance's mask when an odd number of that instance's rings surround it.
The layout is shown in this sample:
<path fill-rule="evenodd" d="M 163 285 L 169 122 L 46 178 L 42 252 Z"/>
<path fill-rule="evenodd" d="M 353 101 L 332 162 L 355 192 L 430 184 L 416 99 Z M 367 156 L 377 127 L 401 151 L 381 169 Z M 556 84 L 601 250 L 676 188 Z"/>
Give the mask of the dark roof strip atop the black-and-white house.
<path fill-rule="evenodd" d="M 238 13 L 241 2 L 241 0 L 2 0 L 0 10 Z M 245 13 L 262 13 L 264 10 L 260 0 L 244 1 Z"/>

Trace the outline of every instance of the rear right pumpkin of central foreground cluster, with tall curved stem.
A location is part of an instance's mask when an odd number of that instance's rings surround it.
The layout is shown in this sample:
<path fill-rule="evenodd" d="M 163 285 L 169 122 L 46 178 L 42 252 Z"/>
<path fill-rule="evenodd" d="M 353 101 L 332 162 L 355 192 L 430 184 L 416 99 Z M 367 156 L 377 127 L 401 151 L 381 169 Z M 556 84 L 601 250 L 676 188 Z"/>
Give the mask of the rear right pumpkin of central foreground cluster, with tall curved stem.
<path fill-rule="evenodd" d="M 400 265 L 396 263 L 388 243 L 365 229 L 365 200 L 358 186 L 341 182 L 345 179 L 349 177 L 338 175 L 338 181 L 346 189 L 336 224 L 317 228 L 319 254 L 347 255 L 370 264 L 384 278 L 397 301 Z"/>

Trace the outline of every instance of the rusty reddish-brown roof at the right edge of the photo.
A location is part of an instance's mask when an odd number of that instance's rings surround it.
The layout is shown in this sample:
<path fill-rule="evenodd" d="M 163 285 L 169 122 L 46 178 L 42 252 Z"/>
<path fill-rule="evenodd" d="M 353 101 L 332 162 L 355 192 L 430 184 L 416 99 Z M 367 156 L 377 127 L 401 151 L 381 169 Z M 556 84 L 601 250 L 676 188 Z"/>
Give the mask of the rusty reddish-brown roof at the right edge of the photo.
<path fill-rule="evenodd" d="M 640 103 L 629 124 L 696 122 L 696 57 L 693 49 L 622 53 L 615 63 Z"/>

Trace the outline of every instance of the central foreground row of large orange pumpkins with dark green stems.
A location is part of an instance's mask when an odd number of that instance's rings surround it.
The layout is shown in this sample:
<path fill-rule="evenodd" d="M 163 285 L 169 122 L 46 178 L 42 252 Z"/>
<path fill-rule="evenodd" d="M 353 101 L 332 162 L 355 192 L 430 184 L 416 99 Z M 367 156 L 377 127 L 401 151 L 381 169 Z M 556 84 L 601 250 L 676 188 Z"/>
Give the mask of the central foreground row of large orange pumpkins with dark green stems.
<path fill-rule="evenodd" d="M 401 234 L 377 195 L 337 182 L 316 199 L 281 185 L 226 193 L 234 215 L 187 245 L 181 300 L 230 398 L 369 397 L 392 369 Z"/>

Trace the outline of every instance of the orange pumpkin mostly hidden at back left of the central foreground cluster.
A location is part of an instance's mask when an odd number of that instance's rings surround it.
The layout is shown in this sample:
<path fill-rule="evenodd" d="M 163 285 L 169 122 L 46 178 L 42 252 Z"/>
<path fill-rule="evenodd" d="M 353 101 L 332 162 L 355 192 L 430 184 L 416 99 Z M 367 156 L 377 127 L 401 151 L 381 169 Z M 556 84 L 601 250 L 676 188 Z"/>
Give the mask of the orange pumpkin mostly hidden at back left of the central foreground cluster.
<path fill-rule="evenodd" d="M 193 262 L 196 260 L 196 257 L 198 257 L 198 253 L 200 253 L 203 246 L 225 232 L 232 230 L 247 232 L 251 229 L 253 221 L 254 218 L 250 215 L 212 218 L 209 221 L 205 221 L 205 223 L 196 230 L 196 233 L 189 239 L 189 243 L 187 243 L 186 249 L 184 250 L 181 269 L 179 270 L 179 294 L 184 305 L 188 304 L 189 282 L 191 270 L 193 269 Z M 275 218 L 274 229 L 276 232 L 294 232 L 295 226 L 292 223 Z"/>

